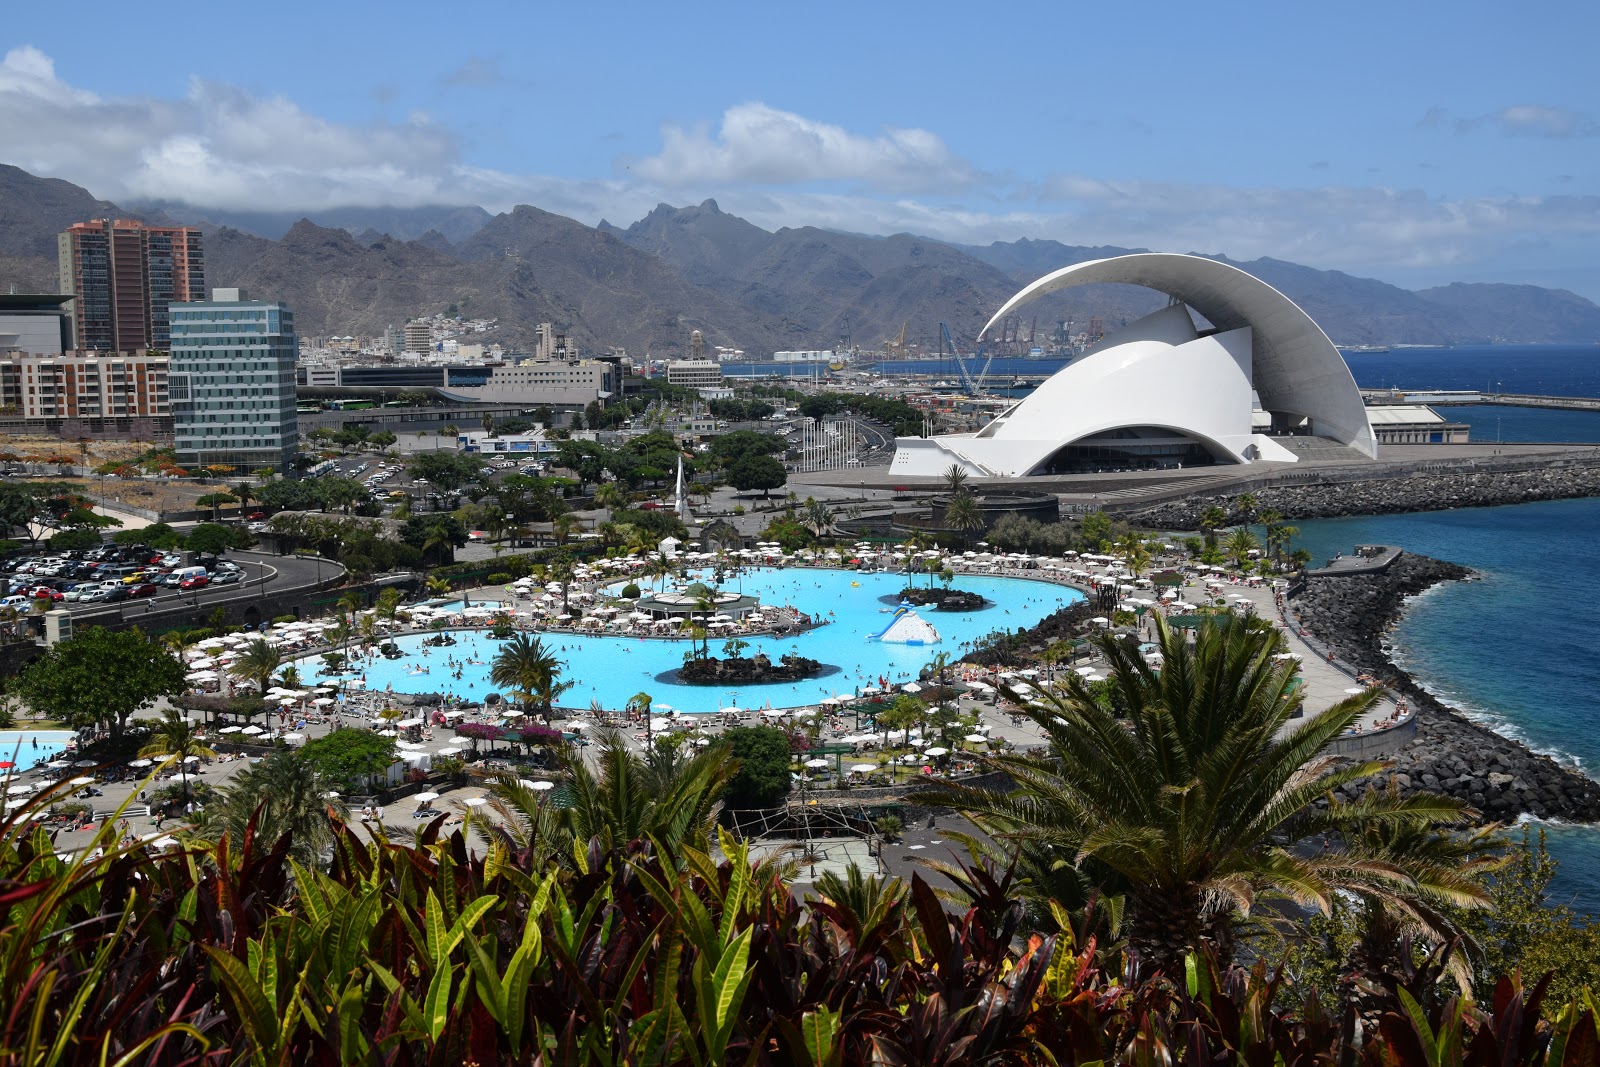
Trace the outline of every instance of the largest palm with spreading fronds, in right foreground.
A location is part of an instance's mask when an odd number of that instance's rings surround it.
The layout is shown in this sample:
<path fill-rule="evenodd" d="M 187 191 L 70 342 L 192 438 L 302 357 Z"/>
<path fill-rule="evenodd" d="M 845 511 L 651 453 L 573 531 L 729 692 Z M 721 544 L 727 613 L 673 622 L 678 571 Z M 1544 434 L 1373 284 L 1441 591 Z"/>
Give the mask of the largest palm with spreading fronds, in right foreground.
<path fill-rule="evenodd" d="M 1112 664 L 1109 707 L 1075 675 L 1027 707 L 1048 757 L 981 757 L 1011 776 L 1013 792 L 949 784 L 925 800 L 1123 896 L 1130 945 L 1168 974 L 1202 942 L 1230 958 L 1235 921 L 1266 896 L 1323 910 L 1339 891 L 1397 907 L 1418 899 L 1421 841 L 1475 813 L 1432 793 L 1338 798 L 1384 768 L 1322 757 L 1376 691 L 1291 728 L 1301 696 L 1293 669 L 1272 657 L 1270 625 L 1224 616 L 1190 645 L 1157 619 L 1157 640 L 1160 672 L 1096 638 Z M 1386 827 L 1414 838 L 1374 845 Z"/>

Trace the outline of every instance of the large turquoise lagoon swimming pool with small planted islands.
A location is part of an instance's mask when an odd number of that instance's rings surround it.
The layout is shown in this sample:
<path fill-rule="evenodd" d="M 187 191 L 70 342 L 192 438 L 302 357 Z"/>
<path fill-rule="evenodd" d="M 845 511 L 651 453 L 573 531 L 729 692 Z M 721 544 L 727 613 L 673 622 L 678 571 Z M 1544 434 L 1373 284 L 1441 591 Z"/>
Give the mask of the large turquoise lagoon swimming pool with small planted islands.
<path fill-rule="evenodd" d="M 925 577 L 920 579 L 926 582 Z M 686 638 L 590 637 L 546 633 L 544 643 L 563 661 L 562 680 L 574 681 L 560 704 L 587 707 L 598 701 L 618 710 L 635 693 L 650 693 L 654 702 L 682 712 L 715 712 L 718 707 L 797 707 L 816 704 L 834 694 L 853 694 L 859 686 L 877 685 L 878 678 L 907 681 L 941 651 L 957 657 L 974 640 L 992 630 L 1014 630 L 1038 622 L 1046 614 L 1083 600 L 1083 593 L 1053 582 L 1021 577 L 962 576 L 957 589 L 981 593 L 994 606 L 981 611 L 920 609 L 942 638 L 939 645 L 885 645 L 867 637 L 890 622 L 893 598 L 906 587 L 904 574 L 862 574 L 858 571 L 826 571 L 810 568 L 758 569 L 730 577 L 723 589 L 754 593 L 768 605 L 794 605 L 818 617 L 830 617 L 827 625 L 795 637 L 744 638 L 744 656 L 766 653 L 776 661 L 784 653 L 818 659 L 835 672 L 808 678 L 744 688 L 678 685 L 662 678 L 683 665 L 690 649 Z M 490 662 L 501 641 L 485 630 L 456 630 L 456 645 L 424 648 L 424 635 L 400 637 L 398 659 L 374 659 L 365 665 L 366 688 L 394 686 L 397 693 L 445 693 L 466 699 L 483 699 L 499 688 L 488 681 Z M 712 638 L 710 651 L 720 656 L 720 640 Z M 451 669 L 445 659 L 461 665 Z M 315 657 L 314 661 L 315 662 Z M 304 670 L 304 669 L 302 669 Z M 426 670 L 426 673 L 421 673 Z M 459 670 L 461 677 L 454 673 Z"/>

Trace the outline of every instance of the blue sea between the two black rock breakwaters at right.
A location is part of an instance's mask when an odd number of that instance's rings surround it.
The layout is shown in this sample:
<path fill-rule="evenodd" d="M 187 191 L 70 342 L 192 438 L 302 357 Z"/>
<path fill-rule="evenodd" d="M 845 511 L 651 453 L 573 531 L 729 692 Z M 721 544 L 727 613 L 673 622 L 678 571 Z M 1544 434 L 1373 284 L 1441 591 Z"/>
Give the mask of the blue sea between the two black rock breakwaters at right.
<path fill-rule="evenodd" d="M 1474 568 L 1414 598 L 1394 633 L 1419 683 L 1536 752 L 1600 776 L 1600 499 L 1304 522 L 1317 560 L 1398 544 Z M 1600 830 L 1547 825 L 1557 893 L 1600 915 Z"/>

